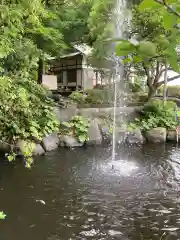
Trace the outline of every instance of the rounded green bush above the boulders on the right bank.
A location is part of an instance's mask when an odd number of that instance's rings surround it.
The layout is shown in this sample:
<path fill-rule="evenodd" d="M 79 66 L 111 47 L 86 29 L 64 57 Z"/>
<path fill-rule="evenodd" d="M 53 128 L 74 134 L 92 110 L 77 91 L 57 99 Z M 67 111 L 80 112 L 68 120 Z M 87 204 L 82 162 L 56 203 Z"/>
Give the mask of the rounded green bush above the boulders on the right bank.
<path fill-rule="evenodd" d="M 139 127 L 142 131 L 156 127 L 175 128 L 177 126 L 175 107 L 174 102 L 153 100 L 144 106 L 142 117 L 131 122 L 129 127 Z"/>

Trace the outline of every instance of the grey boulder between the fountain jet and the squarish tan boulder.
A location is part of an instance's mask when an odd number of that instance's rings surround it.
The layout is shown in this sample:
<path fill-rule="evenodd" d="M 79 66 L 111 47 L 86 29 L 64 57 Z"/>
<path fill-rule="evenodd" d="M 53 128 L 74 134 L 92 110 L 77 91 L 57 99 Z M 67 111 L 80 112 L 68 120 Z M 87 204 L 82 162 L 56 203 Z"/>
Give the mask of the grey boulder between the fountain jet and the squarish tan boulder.
<path fill-rule="evenodd" d="M 142 144 L 144 142 L 144 137 L 139 128 L 135 130 L 130 130 L 125 136 L 125 140 L 129 144 Z"/>

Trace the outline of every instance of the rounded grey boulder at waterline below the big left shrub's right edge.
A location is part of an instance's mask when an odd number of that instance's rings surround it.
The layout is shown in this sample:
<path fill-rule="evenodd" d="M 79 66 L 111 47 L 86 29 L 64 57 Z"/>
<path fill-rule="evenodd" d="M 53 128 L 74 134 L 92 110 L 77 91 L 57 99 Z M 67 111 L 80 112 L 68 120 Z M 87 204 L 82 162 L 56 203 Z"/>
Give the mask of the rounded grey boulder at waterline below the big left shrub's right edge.
<path fill-rule="evenodd" d="M 42 147 L 46 152 L 49 152 L 58 148 L 58 145 L 59 145 L 59 136 L 57 133 L 49 134 L 42 141 Z"/>

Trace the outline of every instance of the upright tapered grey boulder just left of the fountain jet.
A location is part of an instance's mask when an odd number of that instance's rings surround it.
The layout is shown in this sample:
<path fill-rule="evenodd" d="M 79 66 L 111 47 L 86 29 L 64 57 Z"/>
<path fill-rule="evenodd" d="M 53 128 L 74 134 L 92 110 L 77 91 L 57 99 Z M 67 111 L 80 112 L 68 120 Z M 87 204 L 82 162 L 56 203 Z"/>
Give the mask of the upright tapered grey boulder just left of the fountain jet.
<path fill-rule="evenodd" d="M 94 145 L 94 144 L 101 144 L 102 143 L 102 135 L 101 131 L 99 129 L 99 124 L 97 119 L 90 120 L 90 126 L 88 129 L 88 145 Z"/>

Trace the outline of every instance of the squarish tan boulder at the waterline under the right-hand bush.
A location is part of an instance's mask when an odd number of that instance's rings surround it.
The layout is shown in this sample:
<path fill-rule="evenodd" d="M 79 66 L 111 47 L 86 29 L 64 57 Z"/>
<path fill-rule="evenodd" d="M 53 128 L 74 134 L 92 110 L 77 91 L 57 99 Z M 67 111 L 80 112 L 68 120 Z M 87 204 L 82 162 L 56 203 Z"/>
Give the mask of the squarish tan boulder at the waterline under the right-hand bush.
<path fill-rule="evenodd" d="M 157 127 L 146 132 L 146 138 L 152 143 L 166 142 L 166 128 Z"/>

